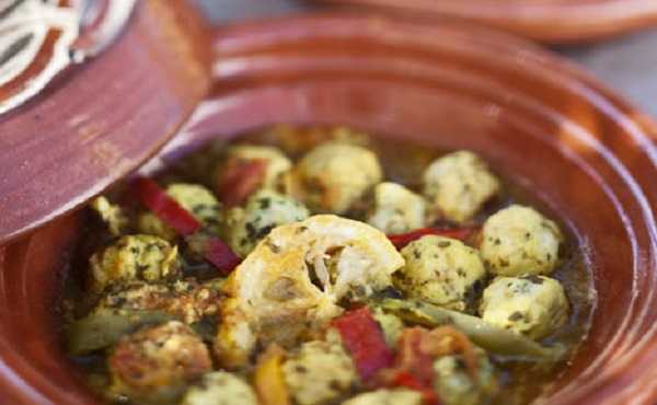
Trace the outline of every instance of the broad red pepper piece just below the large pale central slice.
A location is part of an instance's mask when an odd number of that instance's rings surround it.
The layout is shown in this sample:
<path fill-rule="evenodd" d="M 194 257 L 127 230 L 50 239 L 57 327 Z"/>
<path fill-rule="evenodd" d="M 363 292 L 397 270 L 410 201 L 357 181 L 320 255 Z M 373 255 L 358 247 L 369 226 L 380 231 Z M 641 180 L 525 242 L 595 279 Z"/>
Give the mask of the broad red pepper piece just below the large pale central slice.
<path fill-rule="evenodd" d="M 339 332 L 364 381 L 392 364 L 393 352 L 385 344 L 383 332 L 369 308 L 345 313 L 333 321 L 333 326 Z"/>

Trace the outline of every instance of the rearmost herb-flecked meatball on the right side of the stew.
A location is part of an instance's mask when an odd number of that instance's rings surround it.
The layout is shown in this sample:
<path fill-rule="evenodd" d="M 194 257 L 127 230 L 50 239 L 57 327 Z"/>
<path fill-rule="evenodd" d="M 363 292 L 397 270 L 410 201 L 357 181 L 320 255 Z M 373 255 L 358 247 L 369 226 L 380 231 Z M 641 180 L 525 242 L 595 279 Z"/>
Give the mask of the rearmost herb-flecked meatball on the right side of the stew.
<path fill-rule="evenodd" d="M 423 182 L 431 213 L 453 222 L 472 219 L 500 188 L 486 163 L 468 151 L 434 161 L 426 169 Z"/>

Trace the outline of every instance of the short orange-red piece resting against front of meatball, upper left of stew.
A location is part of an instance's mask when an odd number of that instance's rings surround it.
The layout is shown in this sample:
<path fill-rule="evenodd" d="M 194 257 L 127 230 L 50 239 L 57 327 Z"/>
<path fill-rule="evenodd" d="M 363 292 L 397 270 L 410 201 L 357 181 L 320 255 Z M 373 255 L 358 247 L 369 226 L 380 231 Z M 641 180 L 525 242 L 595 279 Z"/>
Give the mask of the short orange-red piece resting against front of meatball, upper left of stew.
<path fill-rule="evenodd" d="M 238 206 L 262 184 L 267 161 L 263 159 L 230 161 L 217 182 L 217 195 L 228 207 Z"/>

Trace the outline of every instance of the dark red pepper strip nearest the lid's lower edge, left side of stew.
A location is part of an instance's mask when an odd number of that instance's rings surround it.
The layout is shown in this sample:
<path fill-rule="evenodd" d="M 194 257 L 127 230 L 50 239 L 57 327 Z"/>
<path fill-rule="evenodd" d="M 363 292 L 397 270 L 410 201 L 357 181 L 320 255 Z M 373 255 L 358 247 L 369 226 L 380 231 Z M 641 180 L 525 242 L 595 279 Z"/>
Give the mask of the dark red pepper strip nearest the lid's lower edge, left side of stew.
<path fill-rule="evenodd" d="M 178 234 L 186 236 L 200 229 L 200 222 L 171 198 L 152 178 L 137 178 L 139 201 Z"/>

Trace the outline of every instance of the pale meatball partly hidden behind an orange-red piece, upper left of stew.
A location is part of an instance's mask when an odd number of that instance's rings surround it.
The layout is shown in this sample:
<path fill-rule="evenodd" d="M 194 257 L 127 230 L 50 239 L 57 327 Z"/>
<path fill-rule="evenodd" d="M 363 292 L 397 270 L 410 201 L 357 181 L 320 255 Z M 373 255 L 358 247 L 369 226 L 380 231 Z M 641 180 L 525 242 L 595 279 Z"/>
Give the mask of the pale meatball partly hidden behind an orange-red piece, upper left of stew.
<path fill-rule="evenodd" d="M 218 175 L 227 166 L 239 164 L 240 162 L 264 161 L 267 163 L 261 188 L 285 192 L 287 176 L 292 169 L 292 162 L 280 150 L 274 147 L 256 144 L 238 144 L 231 147 L 227 153 L 227 160 L 218 170 Z"/>

